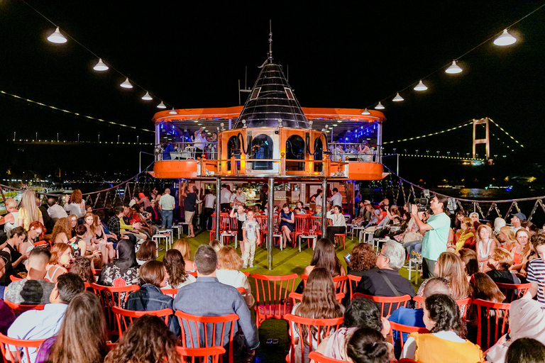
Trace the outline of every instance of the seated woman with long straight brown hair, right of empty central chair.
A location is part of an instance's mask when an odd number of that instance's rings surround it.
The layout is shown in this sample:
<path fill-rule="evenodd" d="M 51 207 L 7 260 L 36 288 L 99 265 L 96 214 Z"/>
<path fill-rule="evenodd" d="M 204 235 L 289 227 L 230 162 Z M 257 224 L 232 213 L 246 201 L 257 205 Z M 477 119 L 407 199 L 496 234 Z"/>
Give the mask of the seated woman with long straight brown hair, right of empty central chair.
<path fill-rule="evenodd" d="M 296 303 L 292 308 L 292 314 L 302 316 L 303 318 L 329 319 L 340 318 L 343 316 L 344 308 L 335 298 L 335 286 L 331 274 L 326 269 L 316 268 L 309 274 L 307 287 L 303 291 L 302 301 Z M 292 325 L 294 333 L 295 347 L 290 347 L 290 357 L 292 362 L 301 362 L 301 354 L 304 350 L 304 362 L 308 359 L 309 332 L 303 330 L 298 332 L 295 325 Z M 330 331 L 330 334 L 333 333 Z M 312 337 L 312 350 L 316 350 L 318 340 Z M 294 357 L 294 360 L 293 360 Z"/>

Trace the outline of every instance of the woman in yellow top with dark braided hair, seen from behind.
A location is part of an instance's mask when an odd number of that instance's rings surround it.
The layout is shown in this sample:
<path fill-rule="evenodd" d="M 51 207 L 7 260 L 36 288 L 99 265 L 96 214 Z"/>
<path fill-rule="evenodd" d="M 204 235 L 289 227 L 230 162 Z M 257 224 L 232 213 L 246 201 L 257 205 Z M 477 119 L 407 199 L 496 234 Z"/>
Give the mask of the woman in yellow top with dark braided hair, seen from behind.
<path fill-rule="evenodd" d="M 450 296 L 435 294 L 426 298 L 424 325 L 429 333 L 409 334 L 402 358 L 422 363 L 483 362 L 480 347 L 463 339 L 460 309 Z"/>

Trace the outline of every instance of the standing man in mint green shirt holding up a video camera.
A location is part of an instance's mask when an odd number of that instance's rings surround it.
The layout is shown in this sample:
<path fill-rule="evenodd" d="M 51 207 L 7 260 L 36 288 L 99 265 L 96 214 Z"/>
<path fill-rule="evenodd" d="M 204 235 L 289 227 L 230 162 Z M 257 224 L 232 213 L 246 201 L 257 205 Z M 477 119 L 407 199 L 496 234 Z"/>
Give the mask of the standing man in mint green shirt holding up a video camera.
<path fill-rule="evenodd" d="M 431 199 L 431 211 L 433 215 L 426 222 L 418 216 L 416 205 L 411 206 L 411 214 L 417 223 L 420 233 L 424 233 L 422 240 L 422 257 L 424 263 L 424 279 L 436 277 L 434 274 L 435 263 L 441 253 L 446 252 L 446 242 L 448 240 L 448 230 L 451 227 L 451 218 L 446 215 L 446 206 L 448 198 L 446 196 L 434 196 Z"/>

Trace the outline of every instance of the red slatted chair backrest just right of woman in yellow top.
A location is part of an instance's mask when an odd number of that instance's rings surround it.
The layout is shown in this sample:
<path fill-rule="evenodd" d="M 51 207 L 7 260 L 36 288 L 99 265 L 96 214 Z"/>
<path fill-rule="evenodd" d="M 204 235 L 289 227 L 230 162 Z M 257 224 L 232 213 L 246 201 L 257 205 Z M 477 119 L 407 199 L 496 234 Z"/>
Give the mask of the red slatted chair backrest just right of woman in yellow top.
<path fill-rule="evenodd" d="M 511 304 L 492 303 L 480 298 L 473 300 L 472 303 L 477 309 L 477 345 L 484 351 L 495 345 L 509 330 Z"/>

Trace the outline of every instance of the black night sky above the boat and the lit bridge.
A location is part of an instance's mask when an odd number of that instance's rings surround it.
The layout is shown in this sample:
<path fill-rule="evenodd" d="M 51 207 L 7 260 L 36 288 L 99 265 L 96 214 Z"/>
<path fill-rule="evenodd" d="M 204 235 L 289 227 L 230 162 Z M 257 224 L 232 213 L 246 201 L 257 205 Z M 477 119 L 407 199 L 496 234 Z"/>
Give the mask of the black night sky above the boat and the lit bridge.
<path fill-rule="evenodd" d="M 29 6 L 30 5 L 30 6 Z M 60 26 L 106 64 L 131 79 L 92 69 L 97 57 L 68 38 L 46 38 Z M 237 82 L 248 86 L 268 51 L 272 19 L 273 56 L 305 107 L 386 107 L 383 140 L 436 132 L 488 116 L 495 126 L 492 155 L 539 162 L 544 109 L 545 8 L 510 28 L 518 42 L 492 40 L 458 61 L 461 74 L 444 69 L 454 59 L 499 35 L 541 6 L 541 1 L 0 1 L 0 90 L 82 115 L 153 129 L 155 106 L 196 108 L 238 105 Z M 435 72 L 437 71 L 437 72 Z M 431 74 L 431 75 L 429 75 Z M 426 77 L 428 76 L 429 77 Z M 417 93 L 419 79 L 429 87 Z M 393 103 L 402 91 L 405 101 Z M 147 90 L 155 96 L 143 101 Z M 247 94 L 243 94 L 243 97 Z M 0 95 L 1 138 L 153 142 L 153 134 L 105 126 L 87 118 Z M 502 144 L 504 142 L 505 144 Z M 47 174 L 50 169 L 138 171 L 138 151 L 151 146 L 24 147 L 4 141 L 0 162 Z M 505 145 L 514 148 L 512 152 Z M 19 146 L 20 147 L 20 146 Z M 397 151 L 465 154 L 471 129 L 400 143 Z M 21 147 L 20 147 L 21 149 Z M 405 169 L 422 160 L 404 161 Z M 425 168 L 423 168 L 425 169 Z M 52 170 L 53 171 L 53 170 Z M 412 176 L 412 175 L 411 175 Z"/>

